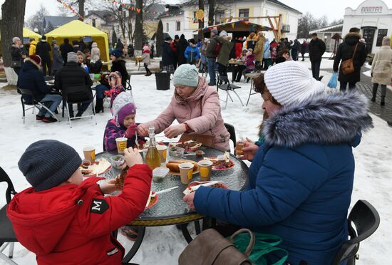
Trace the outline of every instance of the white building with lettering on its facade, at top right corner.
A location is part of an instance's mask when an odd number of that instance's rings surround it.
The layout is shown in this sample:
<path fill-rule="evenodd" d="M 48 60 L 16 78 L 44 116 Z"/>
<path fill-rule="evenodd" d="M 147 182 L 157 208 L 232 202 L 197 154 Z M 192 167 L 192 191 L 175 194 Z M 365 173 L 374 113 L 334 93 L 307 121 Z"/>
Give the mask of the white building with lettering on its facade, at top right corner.
<path fill-rule="evenodd" d="M 376 53 L 383 36 L 392 35 L 392 9 L 388 9 L 381 0 L 363 1 L 357 9 L 347 7 L 344 13 L 343 38 L 352 27 L 361 28 L 368 53 Z"/>

